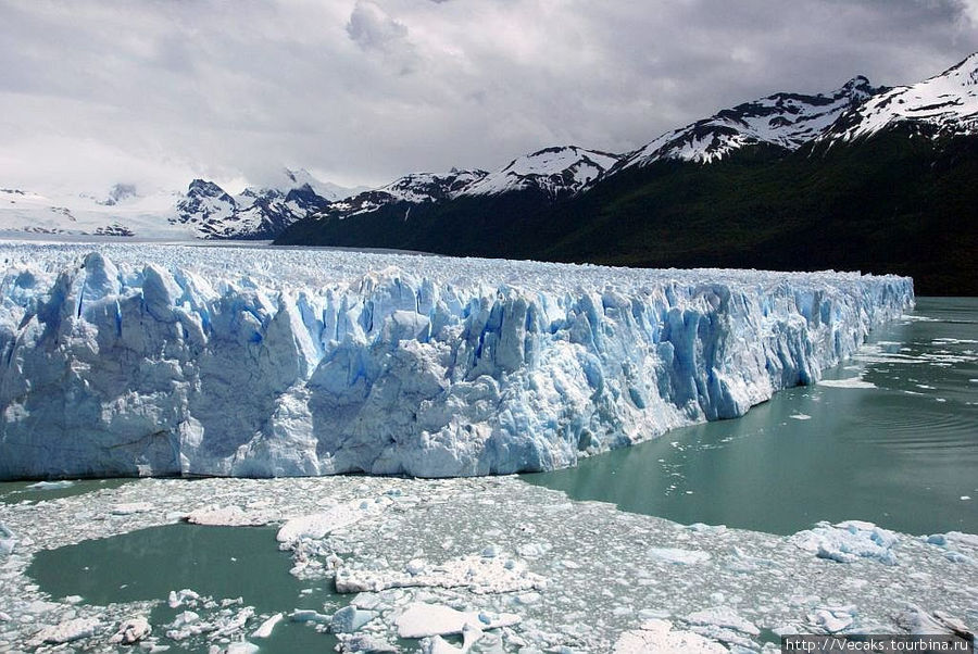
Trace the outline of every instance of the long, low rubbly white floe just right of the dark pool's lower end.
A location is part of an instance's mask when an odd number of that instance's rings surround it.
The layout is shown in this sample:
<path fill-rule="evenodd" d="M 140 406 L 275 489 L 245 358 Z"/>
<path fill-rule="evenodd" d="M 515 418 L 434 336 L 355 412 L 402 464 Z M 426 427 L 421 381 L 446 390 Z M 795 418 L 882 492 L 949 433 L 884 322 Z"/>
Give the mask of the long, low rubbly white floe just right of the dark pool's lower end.
<path fill-rule="evenodd" d="M 336 571 L 336 590 L 340 593 L 381 591 L 389 588 L 467 588 L 474 593 L 506 593 L 539 590 L 546 584 L 543 577 L 530 573 L 522 562 L 496 556 L 463 556 L 437 566 L 415 566 L 416 574 L 393 570 L 360 570 L 339 568 Z"/>

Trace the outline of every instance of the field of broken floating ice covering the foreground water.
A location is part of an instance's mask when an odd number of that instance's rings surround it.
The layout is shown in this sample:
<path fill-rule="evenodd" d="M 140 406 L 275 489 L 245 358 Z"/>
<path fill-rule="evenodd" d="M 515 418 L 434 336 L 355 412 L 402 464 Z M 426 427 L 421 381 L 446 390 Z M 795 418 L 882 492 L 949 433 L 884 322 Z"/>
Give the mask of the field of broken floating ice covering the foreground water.
<path fill-rule="evenodd" d="M 514 477 L 82 483 L 70 498 L 0 503 L 0 651 L 260 652 L 298 624 L 340 652 L 773 653 L 782 633 L 978 627 L 978 537 L 960 532 L 684 526 Z M 179 520 L 275 525 L 266 546 L 293 564 L 280 574 L 339 594 L 256 608 L 174 587 L 97 605 L 51 596 L 27 574 L 41 550 Z M 153 621 L 160 605 L 174 617 Z"/>

